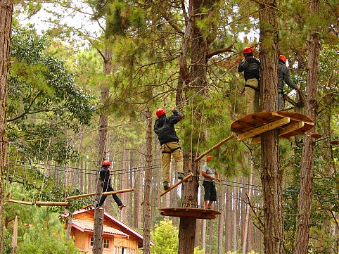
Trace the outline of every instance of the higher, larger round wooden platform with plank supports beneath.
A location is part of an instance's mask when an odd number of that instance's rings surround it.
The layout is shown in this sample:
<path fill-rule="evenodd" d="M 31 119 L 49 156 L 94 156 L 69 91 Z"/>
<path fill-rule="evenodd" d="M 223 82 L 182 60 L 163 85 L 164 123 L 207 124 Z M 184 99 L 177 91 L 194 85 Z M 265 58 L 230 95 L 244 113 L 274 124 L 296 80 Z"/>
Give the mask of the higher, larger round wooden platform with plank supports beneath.
<path fill-rule="evenodd" d="M 237 134 L 238 140 L 252 139 L 260 143 L 260 134 L 271 129 L 280 129 L 279 137 L 290 139 L 291 136 L 304 134 L 312 129 L 314 123 L 306 115 L 287 111 L 260 112 L 246 115 L 231 124 L 231 131 Z"/>

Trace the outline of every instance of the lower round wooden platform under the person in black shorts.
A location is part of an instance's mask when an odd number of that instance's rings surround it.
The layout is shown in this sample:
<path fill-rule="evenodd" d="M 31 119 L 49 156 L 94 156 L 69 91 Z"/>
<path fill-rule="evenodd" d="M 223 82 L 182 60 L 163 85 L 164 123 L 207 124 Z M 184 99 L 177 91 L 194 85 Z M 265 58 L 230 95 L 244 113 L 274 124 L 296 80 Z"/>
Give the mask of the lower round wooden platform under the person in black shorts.
<path fill-rule="evenodd" d="M 212 220 L 220 212 L 202 208 L 161 208 L 160 215 L 172 217 L 193 217 L 197 219 Z"/>

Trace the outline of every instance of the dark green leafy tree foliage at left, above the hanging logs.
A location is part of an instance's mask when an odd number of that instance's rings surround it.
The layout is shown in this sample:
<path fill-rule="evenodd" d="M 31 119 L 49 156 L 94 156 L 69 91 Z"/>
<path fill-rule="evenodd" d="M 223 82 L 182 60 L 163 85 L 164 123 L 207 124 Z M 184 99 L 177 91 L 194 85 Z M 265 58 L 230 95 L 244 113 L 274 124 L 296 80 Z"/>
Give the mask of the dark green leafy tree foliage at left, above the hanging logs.
<path fill-rule="evenodd" d="M 13 30 L 8 139 L 20 141 L 13 144 L 20 150 L 20 157 L 54 158 L 61 163 L 77 158 L 65 139 L 65 129 L 77 132 L 79 125 L 89 124 L 94 96 L 77 89 L 65 63 L 46 53 L 49 43 L 34 30 Z"/>

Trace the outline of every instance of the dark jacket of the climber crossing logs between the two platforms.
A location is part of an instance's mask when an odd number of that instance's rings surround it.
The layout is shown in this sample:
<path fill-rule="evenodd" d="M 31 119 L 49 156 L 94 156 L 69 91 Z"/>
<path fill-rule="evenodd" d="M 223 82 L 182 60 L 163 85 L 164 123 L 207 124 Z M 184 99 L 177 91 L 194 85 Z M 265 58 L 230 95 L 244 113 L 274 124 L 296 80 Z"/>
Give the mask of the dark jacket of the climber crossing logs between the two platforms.
<path fill-rule="evenodd" d="M 158 135 L 160 144 L 179 141 L 174 125 L 181 120 L 182 116 L 176 109 L 172 113 L 173 115 L 170 115 L 169 118 L 162 115 L 155 121 L 154 132 Z"/>

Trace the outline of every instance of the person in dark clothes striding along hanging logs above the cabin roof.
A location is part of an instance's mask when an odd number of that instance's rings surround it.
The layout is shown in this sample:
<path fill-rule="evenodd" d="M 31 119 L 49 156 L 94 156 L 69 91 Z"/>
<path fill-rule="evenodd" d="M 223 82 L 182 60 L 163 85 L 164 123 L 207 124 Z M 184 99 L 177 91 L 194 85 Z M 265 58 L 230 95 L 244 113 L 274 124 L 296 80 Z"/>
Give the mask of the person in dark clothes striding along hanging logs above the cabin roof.
<path fill-rule="evenodd" d="M 103 187 L 103 192 L 114 191 L 114 189 L 112 188 L 112 185 L 110 184 L 110 174 L 111 174 L 110 161 L 104 160 L 103 165 L 101 166 L 101 169 L 99 172 L 100 180 L 101 180 L 101 187 Z M 122 210 L 122 208 L 124 208 L 126 205 L 124 205 L 120 201 L 120 198 L 117 195 L 113 194 L 112 196 L 113 196 L 115 203 L 117 203 L 117 206 L 120 208 L 120 210 Z M 101 205 L 103 205 L 106 197 L 107 196 L 101 196 L 99 203 L 96 204 L 96 208 L 101 207 Z"/>

